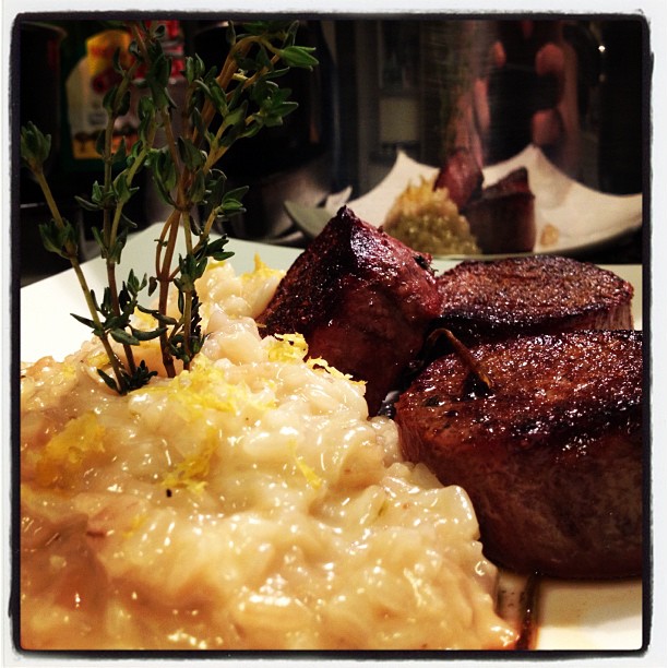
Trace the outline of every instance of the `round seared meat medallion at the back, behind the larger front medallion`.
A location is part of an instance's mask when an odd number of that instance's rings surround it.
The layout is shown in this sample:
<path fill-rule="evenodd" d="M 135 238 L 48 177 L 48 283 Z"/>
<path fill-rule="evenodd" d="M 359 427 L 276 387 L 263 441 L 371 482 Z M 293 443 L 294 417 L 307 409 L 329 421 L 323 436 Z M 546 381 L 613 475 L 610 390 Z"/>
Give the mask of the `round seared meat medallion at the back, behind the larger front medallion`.
<path fill-rule="evenodd" d="M 438 281 L 441 324 L 467 344 L 518 334 L 633 329 L 633 286 L 569 258 L 462 262 Z"/>

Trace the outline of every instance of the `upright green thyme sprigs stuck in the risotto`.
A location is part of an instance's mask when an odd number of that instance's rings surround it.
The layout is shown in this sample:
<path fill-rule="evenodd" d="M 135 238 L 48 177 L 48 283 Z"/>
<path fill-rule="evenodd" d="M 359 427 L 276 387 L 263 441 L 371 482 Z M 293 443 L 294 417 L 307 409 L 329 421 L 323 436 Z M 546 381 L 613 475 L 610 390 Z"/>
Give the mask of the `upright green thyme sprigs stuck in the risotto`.
<path fill-rule="evenodd" d="M 95 212 L 102 222 L 93 236 L 106 263 L 107 286 L 102 300 L 86 282 L 79 260 L 77 235 L 63 218 L 44 174 L 51 139 L 32 122 L 21 131 L 21 156 L 45 195 L 51 220 L 40 225 L 45 247 L 68 259 L 84 294 L 88 314 L 74 318 L 97 336 L 109 358 L 110 373 L 98 372 L 115 391 L 124 394 L 143 386 L 157 373 L 134 348 L 144 341 L 159 339 L 164 371 L 177 373 L 177 360 L 190 367 L 203 344 L 196 281 L 211 259 L 226 260 L 227 237 L 211 238 L 214 224 L 243 212 L 247 188 L 227 188 L 226 175 L 216 165 L 237 141 L 254 136 L 262 128 L 278 126 L 297 103 L 278 80 L 290 68 L 312 69 L 318 64 L 310 47 L 296 45 L 298 23 L 253 21 L 227 31 L 228 52 L 219 70 L 206 70 L 199 56 L 184 61 L 184 102 L 180 108 L 169 93 L 171 59 L 163 50 L 164 26 L 130 22 L 130 62 L 114 59 L 118 83 L 104 98 L 107 124 L 96 147 L 103 162 L 103 182 L 95 182 L 90 198 L 77 198 L 82 207 Z M 240 32 L 237 32 L 240 29 Z M 126 115 L 132 94 L 139 90 L 138 139 L 128 146 L 114 143 L 116 120 Z M 181 128 L 177 134 L 175 128 Z M 158 145 L 158 131 L 162 144 Z M 120 283 L 117 269 L 129 234 L 136 225 L 124 213 L 140 187 L 136 177 L 147 169 L 162 200 L 171 208 L 156 240 L 155 275 L 139 277 L 131 270 Z M 202 218 L 193 214 L 203 212 Z M 186 252 L 177 255 L 177 240 L 183 236 Z M 146 290 L 157 290 L 157 307 L 140 303 Z M 178 313 L 169 312 L 170 294 L 176 290 Z M 133 325 L 136 311 L 155 321 L 152 330 Z M 114 343 L 119 344 L 114 346 Z M 120 348 L 119 348 L 120 346 Z"/>

